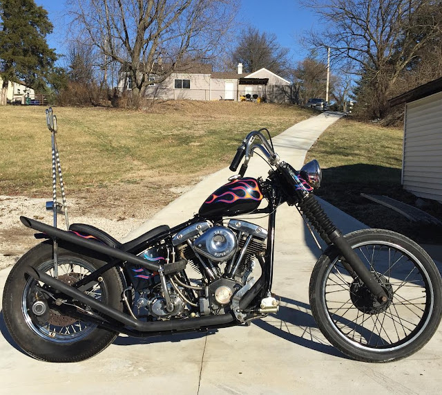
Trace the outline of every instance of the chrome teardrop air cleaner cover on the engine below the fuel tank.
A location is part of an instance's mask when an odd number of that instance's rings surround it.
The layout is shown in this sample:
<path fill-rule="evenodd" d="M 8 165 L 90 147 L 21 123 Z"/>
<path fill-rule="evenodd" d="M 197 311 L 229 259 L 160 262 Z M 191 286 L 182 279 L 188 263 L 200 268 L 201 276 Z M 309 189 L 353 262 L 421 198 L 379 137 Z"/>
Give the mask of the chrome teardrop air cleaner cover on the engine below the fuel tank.
<path fill-rule="evenodd" d="M 238 250 L 236 235 L 224 226 L 215 226 L 206 230 L 193 242 L 195 250 L 213 261 L 229 260 Z"/>

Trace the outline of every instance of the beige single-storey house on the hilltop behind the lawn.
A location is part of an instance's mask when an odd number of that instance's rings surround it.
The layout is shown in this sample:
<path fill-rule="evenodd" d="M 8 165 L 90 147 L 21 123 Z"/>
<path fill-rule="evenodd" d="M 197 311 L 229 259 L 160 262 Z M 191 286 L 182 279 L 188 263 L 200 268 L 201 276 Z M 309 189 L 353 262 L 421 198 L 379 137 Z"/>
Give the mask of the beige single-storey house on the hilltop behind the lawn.
<path fill-rule="evenodd" d="M 158 73 L 159 74 L 159 73 Z M 155 83 L 155 74 L 149 76 L 152 84 L 146 87 L 144 96 L 152 99 L 177 100 L 234 100 L 262 98 L 268 102 L 289 102 L 291 83 L 261 68 L 254 73 L 242 73 L 242 64 L 237 72 L 214 72 L 211 64 L 189 64 L 178 68 L 162 82 Z M 122 71 L 118 91 L 132 89 L 131 75 Z"/>

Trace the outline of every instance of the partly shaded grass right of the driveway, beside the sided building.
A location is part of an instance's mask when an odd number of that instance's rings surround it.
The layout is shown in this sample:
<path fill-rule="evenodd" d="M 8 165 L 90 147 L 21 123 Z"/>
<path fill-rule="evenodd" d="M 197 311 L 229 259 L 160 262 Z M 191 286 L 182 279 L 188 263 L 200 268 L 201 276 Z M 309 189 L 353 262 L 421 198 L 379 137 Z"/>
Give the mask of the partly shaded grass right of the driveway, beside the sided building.
<path fill-rule="evenodd" d="M 418 226 L 360 195 L 385 195 L 414 205 L 416 196 L 401 185 L 402 146 L 402 128 L 339 120 L 307 154 L 307 161 L 316 158 L 323 168 L 323 183 L 316 194 L 372 228 L 401 232 L 421 243 L 440 241 L 440 229 Z M 426 211 L 441 219 L 441 208 L 434 203 Z"/>

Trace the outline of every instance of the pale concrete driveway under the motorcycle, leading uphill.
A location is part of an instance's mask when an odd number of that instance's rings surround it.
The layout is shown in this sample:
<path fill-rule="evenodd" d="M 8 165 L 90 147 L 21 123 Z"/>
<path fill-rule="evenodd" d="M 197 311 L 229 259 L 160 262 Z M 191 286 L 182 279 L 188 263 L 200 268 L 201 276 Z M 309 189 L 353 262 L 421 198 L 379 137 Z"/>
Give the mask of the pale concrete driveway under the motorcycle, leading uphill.
<path fill-rule="evenodd" d="M 322 114 L 275 139 L 276 151 L 299 168 L 305 151 L 337 119 Z M 232 152 L 232 155 L 234 151 Z M 254 161 L 254 162 L 253 162 Z M 256 163 L 256 167 L 255 167 Z M 257 158 L 249 169 L 261 171 Z M 171 203 L 146 224 L 171 226 L 197 212 L 206 196 L 227 180 L 224 169 Z M 344 232 L 363 224 L 323 203 Z M 257 223 L 258 220 L 252 222 Z M 140 232 L 135 232 L 136 236 Z M 319 255 L 300 216 L 278 211 L 273 292 L 282 297 L 277 315 L 250 327 L 215 334 L 139 340 L 120 336 L 95 358 L 61 365 L 38 362 L 11 345 L 0 320 L 2 394 L 439 394 L 442 387 L 440 331 L 419 353 L 383 365 L 355 362 L 330 346 L 310 314 L 308 284 Z M 8 270 L 0 272 L 3 287 Z"/>

